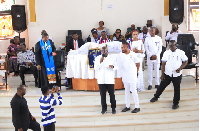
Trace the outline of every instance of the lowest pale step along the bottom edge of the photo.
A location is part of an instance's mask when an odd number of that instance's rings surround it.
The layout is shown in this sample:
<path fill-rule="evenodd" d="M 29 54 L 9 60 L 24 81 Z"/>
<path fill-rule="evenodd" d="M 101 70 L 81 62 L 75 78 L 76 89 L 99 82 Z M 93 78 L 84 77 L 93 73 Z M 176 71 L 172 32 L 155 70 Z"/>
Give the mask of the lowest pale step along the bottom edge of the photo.
<path fill-rule="evenodd" d="M 122 131 L 128 130 L 175 130 L 184 128 L 197 128 L 198 116 L 165 118 L 165 119 L 145 119 L 141 120 L 119 120 L 115 122 L 72 122 L 72 123 L 56 123 L 56 131 L 87 131 L 87 130 L 110 130 Z M 0 130 L 11 131 L 12 123 L 0 123 Z"/>

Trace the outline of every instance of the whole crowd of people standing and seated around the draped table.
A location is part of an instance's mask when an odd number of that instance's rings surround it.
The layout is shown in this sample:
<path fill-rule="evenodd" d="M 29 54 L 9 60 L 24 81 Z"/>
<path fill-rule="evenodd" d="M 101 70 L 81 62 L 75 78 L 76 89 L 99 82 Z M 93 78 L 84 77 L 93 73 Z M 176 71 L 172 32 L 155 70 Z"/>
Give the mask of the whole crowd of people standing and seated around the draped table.
<path fill-rule="evenodd" d="M 162 51 L 162 39 L 156 34 L 159 32 L 155 26 L 152 26 L 152 20 L 147 21 L 147 26 L 142 28 L 139 33 L 132 24 L 127 29 L 125 37 L 121 35 L 121 30 L 116 29 L 114 35 L 108 38 L 109 30 L 103 27 L 104 22 L 99 22 L 99 28 L 91 30 L 91 42 L 103 44 L 111 41 L 121 41 L 120 62 L 118 67 L 112 55 L 109 55 L 108 48 L 103 46 L 101 54 L 95 58 L 94 69 L 98 71 L 97 84 L 99 85 L 102 114 L 107 112 L 106 90 L 110 95 L 112 114 L 116 114 L 116 100 L 114 94 L 114 74 L 118 68 L 122 69 L 122 82 L 125 87 L 125 108 L 122 112 L 130 110 L 130 92 L 135 101 L 135 108 L 131 111 L 137 113 L 140 111 L 138 92 L 144 91 L 142 63 L 146 54 L 148 65 L 148 90 L 152 89 L 153 70 L 155 72 L 156 93 L 150 102 L 156 102 L 165 88 L 172 82 L 174 85 L 174 99 L 172 109 L 179 108 L 180 83 L 182 69 L 187 65 L 188 58 L 185 52 L 176 48 L 177 36 L 180 31 L 175 25 L 172 25 L 172 31 L 167 33 L 166 40 L 169 40 L 169 50 L 165 51 L 160 58 Z M 35 45 L 35 53 L 26 50 L 26 45 L 19 42 L 19 37 L 14 38 L 14 43 L 8 47 L 9 71 L 19 75 L 22 85 L 17 88 L 17 93 L 11 101 L 13 125 L 16 131 L 26 131 L 28 128 L 34 131 L 40 131 L 40 125 L 36 122 L 28 109 L 27 101 L 24 98 L 26 87 L 24 81 L 24 72 L 30 70 L 35 77 L 35 86 L 41 88 L 42 96 L 39 99 L 42 112 L 42 125 L 45 131 L 54 131 L 56 122 L 53 106 L 62 105 L 62 96 L 59 93 L 57 68 L 53 56 L 56 56 L 56 47 L 54 42 L 49 39 L 45 30 L 41 32 L 42 37 L 38 39 Z M 78 39 L 77 33 L 73 33 L 72 39 L 66 45 L 66 51 L 78 50 L 84 42 Z M 160 62 L 162 61 L 161 77 L 159 74 Z M 20 72 L 18 72 L 18 65 Z M 37 70 L 40 70 L 40 79 L 38 80 Z M 159 81 L 161 78 L 161 83 Z M 50 94 L 51 96 L 48 97 Z M 58 99 L 54 98 L 54 93 L 58 94 Z"/>

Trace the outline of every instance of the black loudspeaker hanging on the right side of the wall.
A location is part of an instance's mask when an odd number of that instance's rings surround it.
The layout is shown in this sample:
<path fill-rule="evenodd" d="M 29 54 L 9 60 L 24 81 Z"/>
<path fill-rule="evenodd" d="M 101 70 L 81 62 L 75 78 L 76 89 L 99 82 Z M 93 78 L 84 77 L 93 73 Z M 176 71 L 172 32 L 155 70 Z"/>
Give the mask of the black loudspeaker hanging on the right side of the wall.
<path fill-rule="evenodd" d="M 184 0 L 169 0 L 169 21 L 180 25 L 184 16 Z"/>

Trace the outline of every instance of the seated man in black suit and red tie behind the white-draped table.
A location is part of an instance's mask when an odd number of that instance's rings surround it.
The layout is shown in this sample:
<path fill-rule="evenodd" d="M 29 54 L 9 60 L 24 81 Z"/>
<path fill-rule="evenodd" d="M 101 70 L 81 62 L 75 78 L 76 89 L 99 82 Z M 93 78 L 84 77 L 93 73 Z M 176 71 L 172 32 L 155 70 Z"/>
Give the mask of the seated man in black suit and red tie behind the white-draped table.
<path fill-rule="evenodd" d="M 85 42 L 82 39 L 78 39 L 78 34 L 76 32 L 74 32 L 72 34 L 72 39 L 69 40 L 69 42 L 65 46 L 65 48 L 66 48 L 66 51 L 69 52 L 70 49 L 77 50 L 78 48 L 80 48 L 84 44 L 85 44 Z"/>

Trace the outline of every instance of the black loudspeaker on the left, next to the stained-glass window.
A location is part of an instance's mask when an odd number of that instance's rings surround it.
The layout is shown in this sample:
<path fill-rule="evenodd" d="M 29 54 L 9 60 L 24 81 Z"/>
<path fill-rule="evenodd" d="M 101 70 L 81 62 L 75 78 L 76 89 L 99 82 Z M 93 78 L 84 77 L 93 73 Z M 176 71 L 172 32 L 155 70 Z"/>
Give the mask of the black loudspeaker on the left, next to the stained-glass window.
<path fill-rule="evenodd" d="M 26 30 L 26 13 L 25 5 L 12 5 L 11 6 L 12 25 L 13 30 L 24 31 Z"/>

